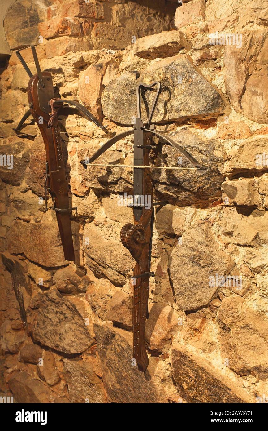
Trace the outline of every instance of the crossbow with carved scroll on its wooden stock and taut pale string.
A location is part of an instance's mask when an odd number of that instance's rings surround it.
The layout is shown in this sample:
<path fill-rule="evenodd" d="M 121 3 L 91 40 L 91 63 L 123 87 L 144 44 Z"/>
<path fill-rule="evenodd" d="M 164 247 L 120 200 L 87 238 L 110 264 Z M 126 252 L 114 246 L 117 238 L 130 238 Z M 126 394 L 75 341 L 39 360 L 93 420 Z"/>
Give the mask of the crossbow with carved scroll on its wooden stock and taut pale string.
<path fill-rule="evenodd" d="M 155 86 L 157 88 L 155 89 Z M 141 90 L 144 92 L 156 91 L 154 101 L 147 119 L 144 124 L 141 118 Z M 173 141 L 169 136 L 155 130 L 155 125 L 151 124 L 154 109 L 160 94 L 161 85 L 159 81 L 152 84 L 139 84 L 137 87 L 137 117 L 134 127 L 128 128 L 120 134 L 109 139 L 102 147 L 99 148 L 91 157 L 81 160 L 84 168 L 87 166 L 111 166 L 126 167 L 130 165 L 101 165 L 94 164 L 102 153 L 115 144 L 120 139 L 134 135 L 134 164 L 133 167 L 133 203 L 134 225 L 127 223 L 120 231 L 120 240 L 124 247 L 131 253 L 136 260 L 133 269 L 133 357 L 136 360 L 138 369 L 145 372 L 148 367 L 148 355 L 145 347 L 145 322 L 148 319 L 148 298 L 149 298 L 149 280 L 154 277 L 151 271 L 151 248 L 154 228 L 154 206 L 166 205 L 168 201 L 153 203 L 154 182 L 151 176 L 151 166 L 149 166 L 149 157 L 153 145 L 153 135 L 162 138 L 168 144 L 172 145 L 179 153 L 191 163 L 193 168 L 181 167 L 158 167 L 161 169 L 195 169 L 199 175 L 203 175 L 209 169 L 209 166 L 203 166 L 197 162 L 194 157 L 187 153 L 179 144 Z M 145 199 L 146 197 L 146 199 Z M 138 199 L 137 199 L 138 198 Z M 139 199 L 140 198 L 140 199 Z M 146 201 L 146 203 L 145 203 Z M 151 204 L 148 204 L 150 203 Z"/>

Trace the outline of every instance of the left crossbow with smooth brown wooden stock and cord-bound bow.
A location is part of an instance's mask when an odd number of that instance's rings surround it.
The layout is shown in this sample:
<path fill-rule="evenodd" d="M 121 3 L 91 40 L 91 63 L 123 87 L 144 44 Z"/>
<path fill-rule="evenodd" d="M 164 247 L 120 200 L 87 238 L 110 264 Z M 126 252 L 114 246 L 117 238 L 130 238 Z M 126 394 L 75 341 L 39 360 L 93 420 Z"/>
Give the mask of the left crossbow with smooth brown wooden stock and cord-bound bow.
<path fill-rule="evenodd" d="M 53 201 L 52 209 L 56 212 L 59 225 L 64 257 L 66 260 L 74 261 L 71 212 L 77 208 L 70 208 L 69 206 L 69 184 L 62 155 L 62 143 L 57 119 L 58 110 L 63 107 L 64 103 L 74 105 L 99 128 L 105 129 L 106 126 L 99 124 L 89 110 L 75 100 L 62 100 L 55 97 L 51 73 L 47 71 L 41 72 L 35 47 L 30 45 L 37 71 L 33 75 L 20 53 L 26 48 L 29 47 L 17 50 L 16 55 L 30 77 L 27 90 L 30 109 L 24 114 L 15 131 L 18 132 L 22 129 L 22 125 L 30 115 L 34 117 L 46 148 L 45 210 L 47 211 L 48 209 L 47 191 L 49 191 Z"/>

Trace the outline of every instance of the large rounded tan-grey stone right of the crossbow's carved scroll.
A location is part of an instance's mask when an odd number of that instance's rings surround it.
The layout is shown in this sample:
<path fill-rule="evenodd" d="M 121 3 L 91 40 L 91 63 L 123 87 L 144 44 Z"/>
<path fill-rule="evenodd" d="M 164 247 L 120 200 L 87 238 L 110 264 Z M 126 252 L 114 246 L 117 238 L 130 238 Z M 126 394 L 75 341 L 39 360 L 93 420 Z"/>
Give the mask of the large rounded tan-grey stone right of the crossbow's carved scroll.
<path fill-rule="evenodd" d="M 169 275 L 179 309 L 190 311 L 209 304 L 220 288 L 216 282 L 209 285 L 209 277 L 228 275 L 233 268 L 234 262 L 219 248 L 208 222 L 186 231 L 182 244 L 169 257 Z"/>

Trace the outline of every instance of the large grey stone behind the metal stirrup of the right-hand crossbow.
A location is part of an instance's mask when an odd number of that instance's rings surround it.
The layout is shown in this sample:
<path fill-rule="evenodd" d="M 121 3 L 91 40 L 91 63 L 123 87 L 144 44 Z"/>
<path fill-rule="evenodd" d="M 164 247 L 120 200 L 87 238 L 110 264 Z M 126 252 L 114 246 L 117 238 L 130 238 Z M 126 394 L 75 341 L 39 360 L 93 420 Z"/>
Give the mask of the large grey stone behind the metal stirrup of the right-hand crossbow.
<path fill-rule="evenodd" d="M 155 62 L 137 79 L 130 72 L 113 79 L 102 93 L 104 115 L 117 123 L 133 124 L 136 117 L 136 87 L 142 82 L 149 84 L 154 81 L 162 84 L 154 122 L 212 118 L 224 111 L 225 102 L 219 91 L 194 68 L 190 59 L 179 54 Z M 147 91 L 148 106 L 151 106 L 154 95 L 154 92 Z M 142 103 L 142 117 L 146 119 L 147 116 Z"/>

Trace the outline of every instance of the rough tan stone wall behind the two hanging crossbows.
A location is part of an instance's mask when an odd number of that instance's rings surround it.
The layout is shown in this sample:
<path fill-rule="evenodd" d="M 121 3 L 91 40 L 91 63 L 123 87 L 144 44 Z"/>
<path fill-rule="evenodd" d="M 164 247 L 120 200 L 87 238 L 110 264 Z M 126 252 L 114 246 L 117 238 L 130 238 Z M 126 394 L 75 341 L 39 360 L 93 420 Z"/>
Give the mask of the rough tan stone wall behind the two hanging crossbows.
<path fill-rule="evenodd" d="M 261 0 L 18 0 L 6 12 L 0 137 L 14 166 L 0 166 L 2 392 L 31 403 L 268 396 L 267 24 Z M 157 129 L 211 167 L 203 176 L 153 170 L 155 200 L 169 204 L 154 224 L 145 375 L 132 365 L 133 260 L 120 242 L 133 215 L 118 196 L 131 194 L 132 169 L 83 169 L 107 136 L 62 112 L 77 206 L 76 261 L 65 261 L 55 213 L 40 199 L 39 129 L 30 119 L 13 131 L 28 109 L 14 50 L 30 43 L 62 97 L 83 103 L 109 136 L 133 124 L 137 84 L 160 80 Z M 176 166 L 179 154 L 156 142 L 151 161 Z M 101 160 L 132 164 L 131 144 Z"/>

